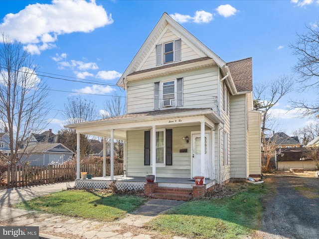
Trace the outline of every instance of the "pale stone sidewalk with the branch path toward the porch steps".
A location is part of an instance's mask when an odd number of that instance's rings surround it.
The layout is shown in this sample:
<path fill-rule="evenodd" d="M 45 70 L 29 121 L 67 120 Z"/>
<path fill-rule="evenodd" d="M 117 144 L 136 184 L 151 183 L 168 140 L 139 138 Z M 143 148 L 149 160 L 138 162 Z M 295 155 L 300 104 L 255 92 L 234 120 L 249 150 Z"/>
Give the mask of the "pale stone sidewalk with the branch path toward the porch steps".
<path fill-rule="evenodd" d="M 73 185 L 74 182 L 68 186 Z M 124 219 L 111 223 L 53 216 L 9 207 L 66 188 L 66 183 L 57 183 L 0 191 L 0 226 L 39 227 L 40 239 L 184 239 L 162 236 L 142 228 L 155 216 L 184 203 L 183 201 L 152 199 L 134 214 L 128 214 Z"/>

